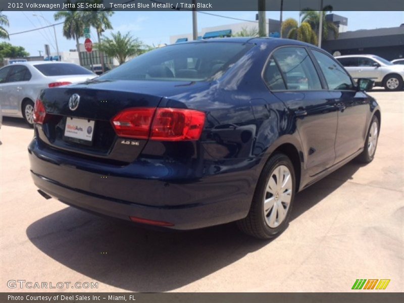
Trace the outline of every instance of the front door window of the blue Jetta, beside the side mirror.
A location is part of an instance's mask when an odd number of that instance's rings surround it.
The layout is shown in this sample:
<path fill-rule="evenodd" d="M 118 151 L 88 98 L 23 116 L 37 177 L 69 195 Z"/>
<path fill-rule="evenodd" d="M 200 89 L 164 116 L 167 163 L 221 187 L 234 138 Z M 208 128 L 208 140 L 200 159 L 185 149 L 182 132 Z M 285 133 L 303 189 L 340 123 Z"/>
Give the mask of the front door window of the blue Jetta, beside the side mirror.
<path fill-rule="evenodd" d="M 325 80 L 330 90 L 346 90 L 353 89 L 352 81 L 349 75 L 339 66 L 334 59 L 329 56 L 312 49 L 312 53 L 316 58 L 321 71 L 324 74 Z"/>

